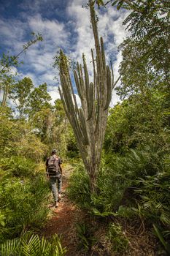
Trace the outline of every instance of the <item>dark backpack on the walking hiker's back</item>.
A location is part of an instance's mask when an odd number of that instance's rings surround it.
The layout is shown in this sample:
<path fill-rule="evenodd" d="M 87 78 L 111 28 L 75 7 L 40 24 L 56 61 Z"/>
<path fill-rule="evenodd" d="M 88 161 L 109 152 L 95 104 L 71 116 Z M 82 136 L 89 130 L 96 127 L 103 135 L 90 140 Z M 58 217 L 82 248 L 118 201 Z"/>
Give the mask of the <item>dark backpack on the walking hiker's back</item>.
<path fill-rule="evenodd" d="M 47 162 L 47 170 L 50 176 L 60 176 L 59 159 L 56 156 L 51 156 Z"/>

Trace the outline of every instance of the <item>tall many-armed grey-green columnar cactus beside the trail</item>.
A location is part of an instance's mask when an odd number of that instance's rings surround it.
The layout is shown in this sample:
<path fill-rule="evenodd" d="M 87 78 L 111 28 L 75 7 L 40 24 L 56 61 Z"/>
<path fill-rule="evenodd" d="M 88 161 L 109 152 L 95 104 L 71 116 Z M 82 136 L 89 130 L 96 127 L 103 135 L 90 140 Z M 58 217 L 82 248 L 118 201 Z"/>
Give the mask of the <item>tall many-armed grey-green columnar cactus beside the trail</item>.
<path fill-rule="evenodd" d="M 95 39 L 96 59 L 91 50 L 93 62 L 93 82 L 90 82 L 85 55 L 82 54 L 83 67 L 77 63 L 74 80 L 81 100 L 78 108 L 69 75 L 66 56 L 60 51 L 61 100 L 69 122 L 74 130 L 82 161 L 90 176 L 90 187 L 96 192 L 96 176 L 101 161 L 101 149 L 107 125 L 109 103 L 114 88 L 113 71 L 106 65 L 104 42 L 98 38 L 96 13 L 92 0 L 89 1 L 90 18 Z"/>

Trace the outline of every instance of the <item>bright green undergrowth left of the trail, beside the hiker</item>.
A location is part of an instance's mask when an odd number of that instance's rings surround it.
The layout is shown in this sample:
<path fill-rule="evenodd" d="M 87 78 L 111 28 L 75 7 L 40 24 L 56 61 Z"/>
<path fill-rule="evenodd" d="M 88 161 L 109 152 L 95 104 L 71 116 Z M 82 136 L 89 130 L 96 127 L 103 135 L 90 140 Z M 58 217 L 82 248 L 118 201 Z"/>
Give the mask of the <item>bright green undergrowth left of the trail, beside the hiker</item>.
<path fill-rule="evenodd" d="M 30 159 L 11 157 L 0 162 L 0 240 L 20 236 L 45 224 L 49 187 Z"/>

